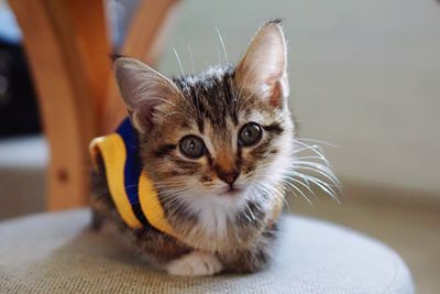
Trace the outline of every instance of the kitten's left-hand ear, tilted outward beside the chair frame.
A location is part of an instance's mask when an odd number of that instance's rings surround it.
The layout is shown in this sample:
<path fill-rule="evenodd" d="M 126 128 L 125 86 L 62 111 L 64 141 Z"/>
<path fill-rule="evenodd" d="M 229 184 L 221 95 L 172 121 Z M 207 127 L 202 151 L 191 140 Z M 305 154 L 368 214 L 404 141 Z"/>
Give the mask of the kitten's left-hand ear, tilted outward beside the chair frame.
<path fill-rule="evenodd" d="M 140 132 L 147 132 L 154 126 L 162 105 L 182 95 L 173 81 L 135 58 L 117 58 L 114 73 L 132 122 Z"/>

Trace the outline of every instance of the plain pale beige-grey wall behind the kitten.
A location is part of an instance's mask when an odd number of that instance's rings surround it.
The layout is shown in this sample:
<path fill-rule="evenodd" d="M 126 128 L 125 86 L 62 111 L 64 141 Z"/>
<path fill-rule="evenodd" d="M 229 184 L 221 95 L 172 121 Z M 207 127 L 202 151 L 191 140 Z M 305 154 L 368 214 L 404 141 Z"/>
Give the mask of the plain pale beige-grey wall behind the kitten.
<path fill-rule="evenodd" d="M 217 25 L 237 61 L 258 25 L 283 18 L 300 135 L 337 173 L 440 197 L 440 4 L 433 0 L 184 1 L 161 63 L 177 74 L 218 62 Z"/>

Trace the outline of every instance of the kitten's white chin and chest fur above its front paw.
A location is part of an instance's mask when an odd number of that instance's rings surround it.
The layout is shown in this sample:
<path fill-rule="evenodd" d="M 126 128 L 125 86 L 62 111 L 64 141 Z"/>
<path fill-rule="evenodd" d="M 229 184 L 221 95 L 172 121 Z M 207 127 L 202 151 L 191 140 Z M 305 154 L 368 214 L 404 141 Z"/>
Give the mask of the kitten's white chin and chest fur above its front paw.
<path fill-rule="evenodd" d="M 200 190 L 194 196 L 185 211 L 193 213 L 195 217 L 188 219 L 177 215 L 170 219 L 170 225 L 182 241 L 207 251 L 246 247 L 264 229 L 275 207 L 264 200 L 258 203 L 252 186 L 231 192 L 224 187 Z"/>

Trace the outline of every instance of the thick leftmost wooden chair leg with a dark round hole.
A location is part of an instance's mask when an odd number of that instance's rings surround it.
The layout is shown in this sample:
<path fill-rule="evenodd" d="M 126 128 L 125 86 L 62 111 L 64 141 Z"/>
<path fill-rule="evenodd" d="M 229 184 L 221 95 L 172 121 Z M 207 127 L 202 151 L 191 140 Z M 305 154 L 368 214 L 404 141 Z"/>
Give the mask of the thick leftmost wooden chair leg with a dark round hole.
<path fill-rule="evenodd" d="M 86 205 L 89 194 L 87 145 L 97 134 L 96 96 L 103 91 L 96 84 L 106 80 L 108 72 L 97 74 L 90 70 L 89 65 L 95 62 L 92 55 L 97 55 L 92 45 L 106 44 L 97 44 L 102 37 L 95 36 L 96 33 L 86 35 L 85 28 L 92 28 L 96 22 L 103 23 L 102 7 L 96 4 L 101 1 L 9 2 L 23 32 L 51 148 L 46 206 L 55 210 Z M 79 20 L 78 14 L 73 15 L 73 2 L 84 6 L 85 11 L 91 9 L 87 11 L 90 18 Z M 95 17 L 102 19 L 97 21 Z M 94 42 L 92 37 L 98 41 L 87 44 Z M 98 78 L 99 75 L 105 78 Z"/>

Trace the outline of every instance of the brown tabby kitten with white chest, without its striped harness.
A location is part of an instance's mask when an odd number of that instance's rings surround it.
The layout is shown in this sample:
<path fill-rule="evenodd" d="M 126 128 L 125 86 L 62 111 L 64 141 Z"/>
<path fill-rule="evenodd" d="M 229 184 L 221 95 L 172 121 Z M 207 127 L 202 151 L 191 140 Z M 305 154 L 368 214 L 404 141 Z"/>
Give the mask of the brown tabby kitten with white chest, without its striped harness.
<path fill-rule="evenodd" d="M 286 67 L 278 21 L 260 29 L 237 67 L 170 80 L 140 61 L 116 58 L 142 171 L 178 238 L 155 228 L 129 228 L 102 168 L 94 173 L 95 225 L 102 218 L 119 224 L 170 274 L 262 269 L 271 260 L 293 164 Z"/>

